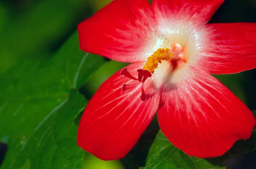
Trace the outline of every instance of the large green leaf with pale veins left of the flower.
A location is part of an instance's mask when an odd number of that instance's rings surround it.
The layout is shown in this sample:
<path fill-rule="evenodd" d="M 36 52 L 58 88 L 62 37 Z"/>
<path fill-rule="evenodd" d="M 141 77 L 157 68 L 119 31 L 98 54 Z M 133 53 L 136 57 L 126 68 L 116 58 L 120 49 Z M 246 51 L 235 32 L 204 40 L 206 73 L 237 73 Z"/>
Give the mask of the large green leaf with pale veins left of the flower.
<path fill-rule="evenodd" d="M 87 101 L 79 87 L 104 62 L 82 52 L 75 33 L 51 58 L 20 62 L 0 75 L 3 169 L 82 167 L 74 120 Z"/>

